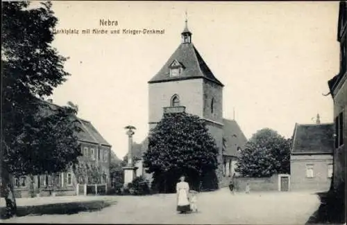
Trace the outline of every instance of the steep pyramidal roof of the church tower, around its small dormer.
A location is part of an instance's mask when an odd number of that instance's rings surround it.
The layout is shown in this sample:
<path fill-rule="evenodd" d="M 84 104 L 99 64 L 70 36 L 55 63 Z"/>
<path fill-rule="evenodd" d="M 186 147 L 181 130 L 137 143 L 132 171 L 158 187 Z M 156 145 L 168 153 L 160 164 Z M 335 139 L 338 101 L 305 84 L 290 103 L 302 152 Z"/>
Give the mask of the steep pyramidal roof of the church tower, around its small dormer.
<path fill-rule="evenodd" d="M 182 74 L 179 77 L 169 78 L 169 66 L 174 61 L 180 62 L 184 66 Z M 182 43 L 169 60 L 162 66 L 162 69 L 151 79 L 149 83 L 167 82 L 171 80 L 187 80 L 194 78 L 204 78 L 216 84 L 224 86 L 217 78 L 214 77 L 210 68 L 205 63 L 200 53 L 192 43 Z"/>

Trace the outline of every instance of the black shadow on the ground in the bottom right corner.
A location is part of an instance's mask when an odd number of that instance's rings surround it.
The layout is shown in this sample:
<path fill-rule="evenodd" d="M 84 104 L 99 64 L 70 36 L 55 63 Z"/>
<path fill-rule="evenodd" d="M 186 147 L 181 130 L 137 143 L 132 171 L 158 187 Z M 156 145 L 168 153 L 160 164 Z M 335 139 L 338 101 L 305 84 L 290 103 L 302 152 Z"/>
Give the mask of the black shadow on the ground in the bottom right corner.
<path fill-rule="evenodd" d="M 318 192 L 319 208 L 306 224 L 344 224 L 346 222 L 346 201 L 335 192 Z"/>

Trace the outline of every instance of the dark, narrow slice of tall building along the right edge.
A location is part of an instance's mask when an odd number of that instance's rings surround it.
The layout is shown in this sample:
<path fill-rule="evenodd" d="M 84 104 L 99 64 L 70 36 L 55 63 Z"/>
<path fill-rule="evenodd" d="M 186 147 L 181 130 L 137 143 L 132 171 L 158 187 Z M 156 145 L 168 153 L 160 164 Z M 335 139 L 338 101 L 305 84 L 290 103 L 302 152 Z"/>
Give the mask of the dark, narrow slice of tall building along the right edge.
<path fill-rule="evenodd" d="M 335 150 L 334 178 L 332 188 L 345 188 L 346 150 L 347 150 L 347 2 L 339 3 L 337 41 L 340 44 L 339 73 L 328 81 L 330 94 L 334 101 Z"/>

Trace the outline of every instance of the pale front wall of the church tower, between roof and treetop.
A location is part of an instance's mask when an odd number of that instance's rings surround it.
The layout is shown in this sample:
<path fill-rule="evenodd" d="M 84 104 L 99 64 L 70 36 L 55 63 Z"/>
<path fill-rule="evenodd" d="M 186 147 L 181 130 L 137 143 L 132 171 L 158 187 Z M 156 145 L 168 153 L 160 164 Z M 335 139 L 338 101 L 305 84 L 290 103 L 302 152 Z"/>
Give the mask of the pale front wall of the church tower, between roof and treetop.
<path fill-rule="evenodd" d="M 149 84 L 149 123 L 161 120 L 162 108 L 170 106 L 174 94 L 180 97 L 180 105 L 186 107 L 188 114 L 203 116 L 203 79 L 160 82 Z"/>

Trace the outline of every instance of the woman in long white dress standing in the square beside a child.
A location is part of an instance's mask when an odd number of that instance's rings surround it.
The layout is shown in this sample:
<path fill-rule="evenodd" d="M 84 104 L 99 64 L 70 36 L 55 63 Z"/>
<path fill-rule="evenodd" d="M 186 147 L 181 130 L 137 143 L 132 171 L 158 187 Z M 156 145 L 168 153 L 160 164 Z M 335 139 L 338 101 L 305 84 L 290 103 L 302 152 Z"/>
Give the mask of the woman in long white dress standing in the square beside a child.
<path fill-rule="evenodd" d="M 185 176 L 180 177 L 180 182 L 176 184 L 177 192 L 177 211 L 186 213 L 190 211 L 190 204 L 188 201 L 189 184 L 185 182 Z"/>

